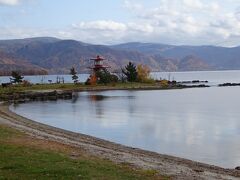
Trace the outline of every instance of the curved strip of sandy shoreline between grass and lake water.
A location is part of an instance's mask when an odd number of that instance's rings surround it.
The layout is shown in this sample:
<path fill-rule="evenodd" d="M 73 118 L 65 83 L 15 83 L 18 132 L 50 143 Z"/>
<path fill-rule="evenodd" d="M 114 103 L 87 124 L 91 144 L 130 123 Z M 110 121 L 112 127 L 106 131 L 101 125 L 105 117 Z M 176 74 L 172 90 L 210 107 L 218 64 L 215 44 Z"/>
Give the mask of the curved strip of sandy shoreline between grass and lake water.
<path fill-rule="evenodd" d="M 36 138 L 56 141 L 80 148 L 90 155 L 107 158 L 116 163 L 129 163 L 138 168 L 155 169 L 174 179 L 240 179 L 240 171 L 162 155 L 105 141 L 92 136 L 73 133 L 44 125 L 19 116 L 0 105 L 0 123 L 26 132 Z"/>

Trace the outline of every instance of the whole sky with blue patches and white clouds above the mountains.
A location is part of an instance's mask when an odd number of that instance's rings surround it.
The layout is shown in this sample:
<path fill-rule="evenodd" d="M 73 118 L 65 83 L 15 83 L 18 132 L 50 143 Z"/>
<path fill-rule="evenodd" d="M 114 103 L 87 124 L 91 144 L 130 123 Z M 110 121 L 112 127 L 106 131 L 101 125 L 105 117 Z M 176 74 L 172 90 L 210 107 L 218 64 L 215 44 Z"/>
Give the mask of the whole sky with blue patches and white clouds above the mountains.
<path fill-rule="evenodd" d="M 240 0 L 0 0 L 0 39 L 240 45 Z"/>

